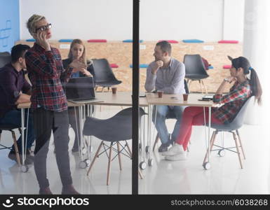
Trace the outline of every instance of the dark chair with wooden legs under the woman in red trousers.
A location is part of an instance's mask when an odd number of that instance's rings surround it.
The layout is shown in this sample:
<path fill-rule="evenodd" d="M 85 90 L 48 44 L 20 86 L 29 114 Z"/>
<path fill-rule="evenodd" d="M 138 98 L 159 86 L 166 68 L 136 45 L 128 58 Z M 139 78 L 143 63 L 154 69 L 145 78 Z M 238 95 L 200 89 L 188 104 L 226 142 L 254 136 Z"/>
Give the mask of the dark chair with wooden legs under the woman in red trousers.
<path fill-rule="evenodd" d="M 249 104 L 249 102 L 251 101 L 252 98 L 254 98 L 254 97 L 250 97 L 249 99 L 247 99 L 245 101 L 245 104 L 243 104 L 243 106 L 238 111 L 238 113 L 236 114 L 234 120 L 232 120 L 231 123 L 226 124 L 226 125 L 217 125 L 217 124 L 211 123 L 211 127 L 214 128 L 215 131 L 212 132 L 212 137 L 210 139 L 210 151 L 218 151 L 218 155 L 220 155 L 221 157 L 224 156 L 225 150 L 237 153 L 241 169 L 243 169 L 243 163 L 242 163 L 242 160 L 241 160 L 241 152 L 242 152 L 242 155 L 243 155 L 243 159 L 245 159 L 245 153 L 244 153 L 244 150 L 243 150 L 243 145 L 242 145 L 242 142 L 241 142 L 241 138 L 240 138 L 238 129 L 241 128 L 242 125 L 243 125 L 245 111 L 246 111 L 246 109 L 248 107 L 248 104 Z M 224 148 L 224 146 L 215 145 L 215 139 L 216 139 L 217 134 L 219 132 L 230 132 L 231 134 L 233 134 L 236 146 L 235 147 Z M 212 150 L 213 146 L 216 146 L 218 149 Z M 236 148 L 236 151 L 231 150 L 233 148 Z M 239 148 L 241 148 L 241 151 L 239 150 Z M 206 152 L 205 158 L 203 160 L 203 167 L 205 167 L 205 169 L 210 168 L 209 162 L 207 162 L 207 160 L 208 160 L 208 152 Z"/>

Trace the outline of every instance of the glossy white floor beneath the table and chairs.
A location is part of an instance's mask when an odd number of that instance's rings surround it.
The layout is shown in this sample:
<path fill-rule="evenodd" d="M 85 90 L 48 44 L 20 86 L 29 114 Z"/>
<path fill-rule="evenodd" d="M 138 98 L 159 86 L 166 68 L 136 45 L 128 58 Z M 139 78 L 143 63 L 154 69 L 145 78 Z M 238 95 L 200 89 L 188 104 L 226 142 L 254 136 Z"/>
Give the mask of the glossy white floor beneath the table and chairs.
<path fill-rule="evenodd" d="M 121 108 L 113 106 L 97 107 L 96 116 L 109 118 Z M 170 130 L 173 120 L 168 120 Z M 70 130 L 73 136 L 73 130 Z M 189 156 L 186 161 L 169 162 L 153 154 L 154 165 L 142 171 L 144 179 L 139 179 L 140 194 L 269 194 L 270 193 L 270 142 L 269 127 L 244 125 L 241 137 L 247 159 L 244 169 L 240 169 L 237 155 L 227 152 L 219 157 L 216 152 L 211 156 L 211 169 L 202 167 L 205 155 L 204 127 L 194 127 L 191 137 Z M 3 132 L 3 142 L 11 142 L 10 134 Z M 231 134 L 224 134 L 226 145 L 231 145 Z M 53 141 L 51 141 L 52 143 Z M 93 139 L 94 151 L 100 140 Z M 73 141 L 70 142 L 70 148 Z M 130 141 L 131 144 L 131 141 Z M 36 194 L 39 192 L 34 167 L 22 173 L 15 162 L 7 158 L 8 151 L 0 151 L 0 194 Z M 93 157 L 94 153 L 91 153 Z M 148 157 L 148 156 L 147 156 Z M 70 162 L 74 186 L 82 194 L 130 194 L 131 161 L 123 157 L 123 170 L 119 171 L 116 158 L 112 164 L 111 183 L 106 185 L 107 157 L 97 159 L 89 176 L 86 169 L 79 168 L 79 154 L 70 151 Z M 48 153 L 48 179 L 53 193 L 61 192 L 62 186 L 58 168 L 50 145 Z"/>

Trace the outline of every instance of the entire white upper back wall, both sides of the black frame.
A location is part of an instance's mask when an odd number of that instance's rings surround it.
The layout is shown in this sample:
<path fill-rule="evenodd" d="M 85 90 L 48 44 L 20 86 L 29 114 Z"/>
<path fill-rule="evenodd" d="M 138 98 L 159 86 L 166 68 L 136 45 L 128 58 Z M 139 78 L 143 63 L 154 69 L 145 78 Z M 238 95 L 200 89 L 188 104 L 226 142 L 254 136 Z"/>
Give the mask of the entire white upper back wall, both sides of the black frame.
<path fill-rule="evenodd" d="M 224 10 L 226 1 L 231 0 L 141 0 L 140 38 L 242 41 L 243 15 L 235 11 L 243 11 L 243 0 L 230 2 L 234 10 Z M 133 0 L 20 0 L 21 39 L 30 38 L 25 22 L 34 13 L 45 15 L 53 24 L 55 40 L 123 40 L 133 35 Z"/>

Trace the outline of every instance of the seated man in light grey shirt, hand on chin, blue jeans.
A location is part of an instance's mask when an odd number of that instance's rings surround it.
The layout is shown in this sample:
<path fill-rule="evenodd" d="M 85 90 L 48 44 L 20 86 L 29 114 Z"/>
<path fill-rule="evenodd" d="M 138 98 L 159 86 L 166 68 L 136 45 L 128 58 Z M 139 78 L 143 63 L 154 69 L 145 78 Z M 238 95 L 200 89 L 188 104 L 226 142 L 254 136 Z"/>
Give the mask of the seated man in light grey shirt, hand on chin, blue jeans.
<path fill-rule="evenodd" d="M 145 90 L 163 91 L 166 94 L 183 94 L 185 69 L 182 62 L 171 57 L 172 47 L 168 41 L 156 43 L 154 48 L 154 62 L 151 62 L 147 68 L 147 79 L 145 81 Z M 157 113 L 156 113 L 157 110 Z M 154 106 L 153 123 L 156 121 L 156 130 L 161 139 L 161 146 L 158 152 L 168 150 L 168 146 L 173 144 L 180 130 L 180 120 L 184 107 L 182 106 Z M 173 111 L 176 116 L 176 123 L 173 134 L 170 137 L 166 127 L 166 116 L 169 111 Z M 156 120 L 155 120 L 156 116 Z"/>

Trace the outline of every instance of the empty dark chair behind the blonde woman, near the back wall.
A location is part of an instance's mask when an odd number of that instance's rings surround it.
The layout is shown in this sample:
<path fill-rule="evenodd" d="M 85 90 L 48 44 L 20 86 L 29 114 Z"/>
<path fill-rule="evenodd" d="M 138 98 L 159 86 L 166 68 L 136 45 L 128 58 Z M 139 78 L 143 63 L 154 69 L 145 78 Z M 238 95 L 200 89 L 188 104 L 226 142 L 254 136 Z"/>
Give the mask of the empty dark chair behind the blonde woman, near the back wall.
<path fill-rule="evenodd" d="M 104 87 L 107 87 L 109 90 L 109 87 L 122 83 L 122 81 L 117 80 L 114 76 L 114 72 L 111 66 L 109 66 L 107 59 L 93 59 L 93 67 L 96 88 L 102 87 L 102 92 Z"/>

